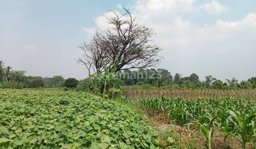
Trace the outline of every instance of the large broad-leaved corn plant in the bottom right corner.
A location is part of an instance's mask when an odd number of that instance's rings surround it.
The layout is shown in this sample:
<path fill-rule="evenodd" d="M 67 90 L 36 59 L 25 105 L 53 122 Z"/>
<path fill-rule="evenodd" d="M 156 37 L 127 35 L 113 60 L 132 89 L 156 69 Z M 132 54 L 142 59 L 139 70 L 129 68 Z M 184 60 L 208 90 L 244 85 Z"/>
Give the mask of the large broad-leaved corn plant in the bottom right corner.
<path fill-rule="evenodd" d="M 242 148 L 245 149 L 246 142 L 250 142 L 254 138 L 251 129 L 251 121 L 255 118 L 256 113 L 247 116 L 248 110 L 239 116 L 234 111 L 227 110 L 230 114 L 228 121 L 233 125 L 233 131 L 226 134 L 224 137 L 224 142 L 226 143 L 226 138 L 228 136 L 234 136 L 241 143 Z"/>

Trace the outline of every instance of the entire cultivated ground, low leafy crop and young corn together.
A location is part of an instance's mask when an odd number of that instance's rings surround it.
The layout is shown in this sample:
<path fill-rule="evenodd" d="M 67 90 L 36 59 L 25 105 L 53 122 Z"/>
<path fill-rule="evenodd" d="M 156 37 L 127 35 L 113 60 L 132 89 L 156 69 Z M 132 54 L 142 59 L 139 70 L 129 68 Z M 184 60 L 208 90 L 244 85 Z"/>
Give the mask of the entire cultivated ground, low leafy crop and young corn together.
<path fill-rule="evenodd" d="M 254 148 L 249 98 L 102 99 L 85 92 L 0 90 L 0 148 Z"/>

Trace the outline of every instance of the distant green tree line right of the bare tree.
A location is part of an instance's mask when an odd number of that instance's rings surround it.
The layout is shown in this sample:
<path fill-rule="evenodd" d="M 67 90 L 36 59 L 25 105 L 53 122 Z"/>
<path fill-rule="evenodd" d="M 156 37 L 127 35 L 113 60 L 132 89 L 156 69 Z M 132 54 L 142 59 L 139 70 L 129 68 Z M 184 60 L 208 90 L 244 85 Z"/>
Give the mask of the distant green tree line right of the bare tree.
<path fill-rule="evenodd" d="M 129 75 L 128 75 L 129 74 Z M 205 80 L 200 81 L 196 73 L 183 77 L 181 73 L 176 73 L 174 77 L 168 70 L 154 69 L 137 71 L 118 71 L 117 78 L 124 81 L 125 85 L 139 85 L 140 87 L 164 88 L 164 89 L 255 89 L 256 77 L 251 77 L 239 82 L 238 79 L 231 78 L 221 81 L 212 75 L 206 76 Z"/>

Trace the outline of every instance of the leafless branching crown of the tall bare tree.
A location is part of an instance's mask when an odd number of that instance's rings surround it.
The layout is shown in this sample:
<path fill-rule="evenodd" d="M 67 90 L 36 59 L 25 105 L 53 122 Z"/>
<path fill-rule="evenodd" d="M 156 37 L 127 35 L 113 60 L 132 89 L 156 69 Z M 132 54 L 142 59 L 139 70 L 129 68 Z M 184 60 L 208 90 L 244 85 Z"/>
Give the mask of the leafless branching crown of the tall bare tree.
<path fill-rule="evenodd" d="M 89 43 L 84 42 L 78 46 L 84 50 L 84 54 L 77 59 L 78 63 L 85 65 L 88 70 L 92 67 L 95 72 L 102 72 L 103 64 L 100 58 L 108 66 L 118 59 L 116 72 L 159 64 L 158 53 L 161 49 L 152 44 L 151 40 L 155 34 L 154 29 L 135 23 L 129 9 L 123 7 L 123 10 L 124 14 L 111 11 L 113 17 L 106 16 L 111 27 L 105 31 L 96 30 Z"/>

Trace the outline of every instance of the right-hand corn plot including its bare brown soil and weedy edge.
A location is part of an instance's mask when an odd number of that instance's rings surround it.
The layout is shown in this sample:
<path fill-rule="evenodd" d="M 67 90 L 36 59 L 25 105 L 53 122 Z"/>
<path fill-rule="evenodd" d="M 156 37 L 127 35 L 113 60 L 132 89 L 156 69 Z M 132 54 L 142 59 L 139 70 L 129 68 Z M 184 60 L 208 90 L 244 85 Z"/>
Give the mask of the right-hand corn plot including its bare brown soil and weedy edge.
<path fill-rule="evenodd" d="M 155 122 L 162 148 L 253 148 L 255 100 L 237 98 L 122 98 Z"/>

